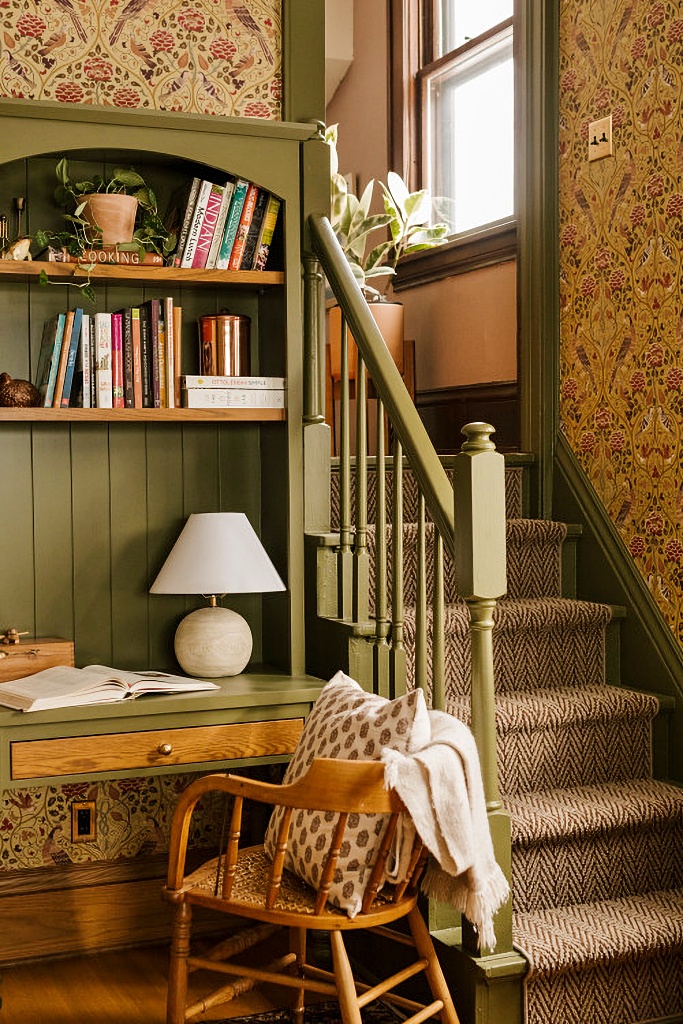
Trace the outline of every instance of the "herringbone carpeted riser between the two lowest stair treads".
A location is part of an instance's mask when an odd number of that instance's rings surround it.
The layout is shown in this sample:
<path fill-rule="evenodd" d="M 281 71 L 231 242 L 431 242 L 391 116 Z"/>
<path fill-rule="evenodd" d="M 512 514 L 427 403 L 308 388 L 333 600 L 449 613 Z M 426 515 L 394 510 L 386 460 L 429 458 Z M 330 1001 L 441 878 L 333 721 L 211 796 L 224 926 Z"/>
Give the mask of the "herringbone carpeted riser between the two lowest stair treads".
<path fill-rule="evenodd" d="M 513 844 L 515 911 L 591 903 L 683 885 L 683 822 Z"/>

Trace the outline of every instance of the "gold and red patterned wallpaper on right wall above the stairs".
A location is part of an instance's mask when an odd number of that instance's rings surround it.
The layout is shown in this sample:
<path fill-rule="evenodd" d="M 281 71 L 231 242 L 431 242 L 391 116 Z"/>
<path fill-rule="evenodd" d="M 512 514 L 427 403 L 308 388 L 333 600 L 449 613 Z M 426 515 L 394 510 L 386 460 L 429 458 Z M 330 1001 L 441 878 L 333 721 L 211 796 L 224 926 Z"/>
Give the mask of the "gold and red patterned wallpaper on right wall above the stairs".
<path fill-rule="evenodd" d="M 561 427 L 683 642 L 683 3 L 560 23 Z"/>

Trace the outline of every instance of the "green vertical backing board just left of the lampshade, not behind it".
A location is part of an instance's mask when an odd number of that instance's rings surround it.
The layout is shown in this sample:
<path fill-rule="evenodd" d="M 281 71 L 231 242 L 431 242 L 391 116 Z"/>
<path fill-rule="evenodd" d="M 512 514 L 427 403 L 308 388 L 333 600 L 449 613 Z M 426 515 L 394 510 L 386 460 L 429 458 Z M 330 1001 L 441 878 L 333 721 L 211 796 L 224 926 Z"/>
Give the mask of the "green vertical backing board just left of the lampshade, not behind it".
<path fill-rule="evenodd" d="M 147 474 L 145 428 L 110 428 L 112 633 L 114 664 L 146 668 Z"/>

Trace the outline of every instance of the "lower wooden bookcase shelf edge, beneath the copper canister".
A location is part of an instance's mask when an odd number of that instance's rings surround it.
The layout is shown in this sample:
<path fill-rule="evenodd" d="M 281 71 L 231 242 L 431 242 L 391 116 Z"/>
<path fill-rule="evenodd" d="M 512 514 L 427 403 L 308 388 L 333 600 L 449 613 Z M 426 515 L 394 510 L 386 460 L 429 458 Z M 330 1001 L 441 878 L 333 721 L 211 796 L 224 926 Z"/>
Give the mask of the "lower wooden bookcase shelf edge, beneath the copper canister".
<path fill-rule="evenodd" d="M 16 409 L 0 408 L 4 423 L 186 423 L 196 420 L 285 422 L 286 409 Z"/>

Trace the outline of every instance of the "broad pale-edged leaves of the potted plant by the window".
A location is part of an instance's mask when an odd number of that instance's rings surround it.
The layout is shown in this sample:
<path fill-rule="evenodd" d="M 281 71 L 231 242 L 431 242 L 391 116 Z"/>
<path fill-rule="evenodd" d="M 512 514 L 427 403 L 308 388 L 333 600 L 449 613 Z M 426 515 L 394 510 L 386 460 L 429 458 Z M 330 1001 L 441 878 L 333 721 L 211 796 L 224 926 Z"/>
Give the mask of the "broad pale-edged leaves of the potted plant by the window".
<path fill-rule="evenodd" d="M 368 182 L 360 198 L 348 190 L 346 178 L 339 173 L 337 138 L 338 125 L 331 125 L 325 133 L 331 150 L 330 223 L 366 295 L 381 299 L 386 295 L 399 260 L 410 253 L 441 245 L 447 241 L 449 227 L 444 221 L 432 221 L 437 201 L 430 190 L 410 191 L 395 171 L 389 171 L 386 182 L 379 182 L 384 213 L 371 213 L 375 179 Z M 438 205 L 447 206 L 449 202 L 439 199 Z M 384 240 L 368 251 L 371 236 L 374 237 L 377 230 L 383 230 Z M 381 291 L 368 284 L 382 276 L 387 281 Z"/>

